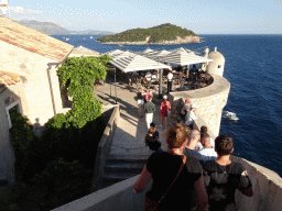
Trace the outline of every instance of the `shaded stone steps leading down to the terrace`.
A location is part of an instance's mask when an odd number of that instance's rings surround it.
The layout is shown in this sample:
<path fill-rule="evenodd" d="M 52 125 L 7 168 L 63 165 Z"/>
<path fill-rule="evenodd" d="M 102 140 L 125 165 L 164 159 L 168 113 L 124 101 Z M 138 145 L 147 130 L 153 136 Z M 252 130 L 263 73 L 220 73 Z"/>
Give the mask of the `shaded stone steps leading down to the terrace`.
<path fill-rule="evenodd" d="M 141 174 L 148 155 L 109 155 L 100 189 Z"/>

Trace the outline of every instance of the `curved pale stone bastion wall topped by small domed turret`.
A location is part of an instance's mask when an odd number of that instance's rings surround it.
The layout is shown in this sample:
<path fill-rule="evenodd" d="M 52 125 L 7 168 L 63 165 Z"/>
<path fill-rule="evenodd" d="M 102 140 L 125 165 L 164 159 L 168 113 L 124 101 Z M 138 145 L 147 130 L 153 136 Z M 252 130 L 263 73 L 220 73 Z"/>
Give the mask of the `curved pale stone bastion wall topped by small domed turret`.
<path fill-rule="evenodd" d="M 213 77 L 214 81 L 200 89 L 171 92 L 170 101 L 174 107 L 172 113 L 176 116 L 184 100 L 189 99 L 193 104 L 197 106 L 197 113 L 216 137 L 219 135 L 223 109 L 228 100 L 230 82 L 223 77 L 225 67 L 223 54 L 217 52 L 215 47 L 215 51 L 208 54 L 208 58 L 213 62 L 208 64 L 206 71 Z"/>

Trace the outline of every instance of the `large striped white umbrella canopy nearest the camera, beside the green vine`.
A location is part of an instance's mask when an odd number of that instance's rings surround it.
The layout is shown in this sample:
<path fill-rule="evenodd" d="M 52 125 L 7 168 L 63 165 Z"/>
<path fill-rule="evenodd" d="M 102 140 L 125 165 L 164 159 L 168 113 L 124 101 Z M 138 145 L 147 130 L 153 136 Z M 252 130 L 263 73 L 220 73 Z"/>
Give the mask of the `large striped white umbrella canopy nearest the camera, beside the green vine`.
<path fill-rule="evenodd" d="M 129 71 L 139 71 L 139 70 L 148 70 L 148 69 L 171 69 L 171 66 L 164 65 L 162 63 L 158 63 L 153 59 L 141 55 L 131 55 L 127 57 L 118 57 L 113 58 L 109 62 L 115 67 L 118 67 L 124 73 Z"/>

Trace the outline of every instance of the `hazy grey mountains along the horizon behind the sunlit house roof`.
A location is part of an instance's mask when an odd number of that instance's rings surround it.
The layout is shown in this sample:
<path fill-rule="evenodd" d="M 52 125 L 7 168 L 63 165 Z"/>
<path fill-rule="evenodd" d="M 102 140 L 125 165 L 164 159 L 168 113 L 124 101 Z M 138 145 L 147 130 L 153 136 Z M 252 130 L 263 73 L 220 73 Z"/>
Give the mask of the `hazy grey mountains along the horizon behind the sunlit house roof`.
<path fill-rule="evenodd" d="M 37 22 L 37 21 L 29 21 L 29 20 L 21 20 L 17 22 L 28 27 L 31 27 L 33 30 L 43 32 L 45 34 L 113 34 L 112 32 L 95 31 L 95 30 L 68 31 L 59 26 L 58 24 L 51 23 L 51 22 Z"/>

